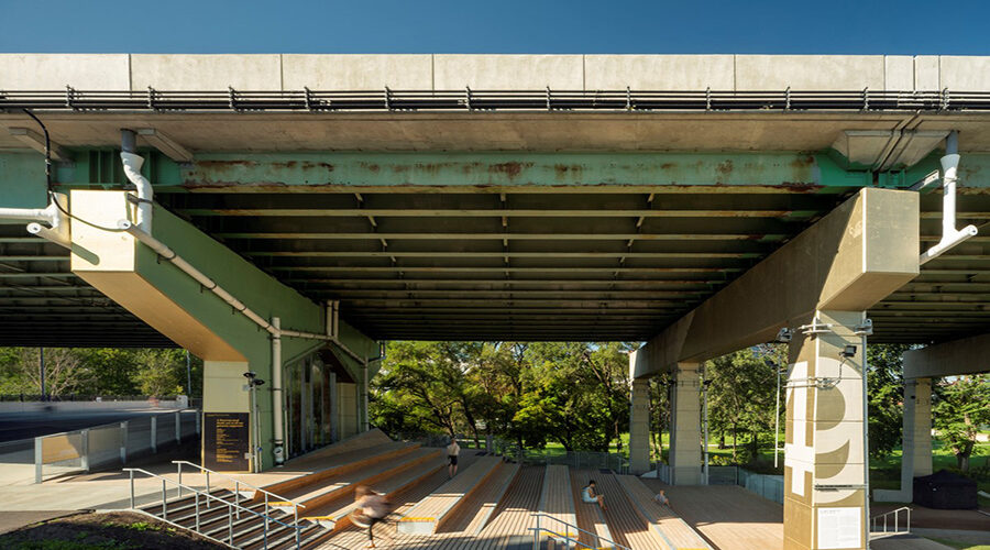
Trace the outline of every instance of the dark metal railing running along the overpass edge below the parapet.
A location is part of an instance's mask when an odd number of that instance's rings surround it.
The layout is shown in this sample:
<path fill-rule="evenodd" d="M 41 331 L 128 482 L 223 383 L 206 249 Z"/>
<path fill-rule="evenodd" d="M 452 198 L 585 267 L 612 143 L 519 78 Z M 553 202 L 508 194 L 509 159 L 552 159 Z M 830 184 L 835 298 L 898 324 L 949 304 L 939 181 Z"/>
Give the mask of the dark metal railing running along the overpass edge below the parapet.
<path fill-rule="evenodd" d="M 0 90 L 0 110 L 68 111 L 990 111 L 990 92 L 862 90 Z"/>

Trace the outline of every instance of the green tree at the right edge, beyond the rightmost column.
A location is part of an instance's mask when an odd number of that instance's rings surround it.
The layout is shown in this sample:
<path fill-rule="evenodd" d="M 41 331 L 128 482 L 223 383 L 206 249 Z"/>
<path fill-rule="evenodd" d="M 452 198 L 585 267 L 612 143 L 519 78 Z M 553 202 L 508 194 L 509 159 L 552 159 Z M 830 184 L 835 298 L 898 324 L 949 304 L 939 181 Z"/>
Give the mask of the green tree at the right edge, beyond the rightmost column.
<path fill-rule="evenodd" d="M 969 471 L 980 426 L 990 424 L 990 378 L 986 374 L 945 378 L 935 392 L 934 424 L 961 472 Z"/>

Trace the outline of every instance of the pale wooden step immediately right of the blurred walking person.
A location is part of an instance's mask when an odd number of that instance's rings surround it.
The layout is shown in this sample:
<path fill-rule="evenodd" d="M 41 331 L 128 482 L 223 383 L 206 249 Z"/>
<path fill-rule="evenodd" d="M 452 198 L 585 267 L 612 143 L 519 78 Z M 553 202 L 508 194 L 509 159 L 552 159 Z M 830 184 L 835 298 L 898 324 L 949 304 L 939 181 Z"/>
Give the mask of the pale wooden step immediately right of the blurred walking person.
<path fill-rule="evenodd" d="M 448 521 L 457 507 L 485 482 L 502 464 L 499 457 L 482 457 L 473 464 L 441 485 L 430 496 L 419 502 L 398 522 L 398 532 L 405 535 L 432 535 Z"/>

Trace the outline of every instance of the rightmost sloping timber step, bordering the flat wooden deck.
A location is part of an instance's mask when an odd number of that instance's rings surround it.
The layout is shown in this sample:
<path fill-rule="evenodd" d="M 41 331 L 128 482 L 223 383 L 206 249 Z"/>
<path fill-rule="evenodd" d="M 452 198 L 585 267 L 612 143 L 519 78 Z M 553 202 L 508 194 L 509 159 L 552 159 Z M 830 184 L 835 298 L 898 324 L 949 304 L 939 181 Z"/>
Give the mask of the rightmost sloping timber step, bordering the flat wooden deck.
<path fill-rule="evenodd" d="M 615 492 L 626 497 L 625 504 L 628 505 L 628 510 L 625 514 L 636 518 L 637 522 L 642 526 L 635 532 L 626 531 L 630 547 L 662 550 L 712 548 L 670 507 L 661 506 L 653 501 L 657 493 L 647 487 L 639 477 L 616 475 L 613 480 Z M 646 529 L 647 526 L 649 529 Z"/>

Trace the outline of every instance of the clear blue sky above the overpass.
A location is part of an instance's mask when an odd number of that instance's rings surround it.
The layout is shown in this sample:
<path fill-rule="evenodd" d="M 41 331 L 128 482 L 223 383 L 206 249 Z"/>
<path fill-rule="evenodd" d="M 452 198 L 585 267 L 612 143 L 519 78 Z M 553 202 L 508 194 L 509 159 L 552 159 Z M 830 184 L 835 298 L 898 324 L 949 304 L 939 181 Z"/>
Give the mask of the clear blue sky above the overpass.
<path fill-rule="evenodd" d="M 988 31 L 990 0 L 0 0 L 7 53 L 988 55 Z"/>

